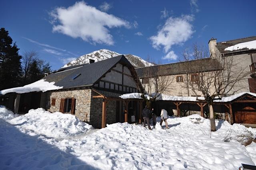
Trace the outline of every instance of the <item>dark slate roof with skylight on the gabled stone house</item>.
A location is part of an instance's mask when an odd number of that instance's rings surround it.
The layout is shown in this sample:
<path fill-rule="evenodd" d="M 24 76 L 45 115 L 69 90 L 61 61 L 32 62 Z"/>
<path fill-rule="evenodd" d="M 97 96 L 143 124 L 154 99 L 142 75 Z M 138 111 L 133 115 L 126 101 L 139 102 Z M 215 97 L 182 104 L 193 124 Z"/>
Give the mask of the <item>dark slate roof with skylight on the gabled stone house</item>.
<path fill-rule="evenodd" d="M 123 55 L 120 55 L 91 64 L 61 68 L 43 79 L 55 82 L 55 86 L 63 86 L 63 88 L 91 86 L 119 62 L 132 66 Z M 75 75 L 79 76 L 73 80 Z"/>

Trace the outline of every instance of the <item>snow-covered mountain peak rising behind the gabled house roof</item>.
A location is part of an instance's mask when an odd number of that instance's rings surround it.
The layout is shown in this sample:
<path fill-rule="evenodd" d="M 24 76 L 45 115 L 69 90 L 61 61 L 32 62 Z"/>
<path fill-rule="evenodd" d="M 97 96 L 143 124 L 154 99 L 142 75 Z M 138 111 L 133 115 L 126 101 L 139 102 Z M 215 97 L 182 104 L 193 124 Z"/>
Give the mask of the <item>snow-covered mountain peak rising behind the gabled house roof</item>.
<path fill-rule="evenodd" d="M 119 55 L 122 55 L 122 54 L 119 54 L 117 52 L 113 52 L 110 50 L 106 50 L 106 49 L 101 49 L 101 50 L 91 52 L 90 54 L 85 54 L 83 56 L 80 56 L 76 60 L 73 60 L 73 61 L 69 62 L 68 64 L 64 65 L 62 68 L 89 63 L 89 59 L 92 59 L 92 60 L 95 60 L 95 62 L 98 62 L 98 61 L 106 60 L 108 58 L 116 57 Z M 126 54 L 124 56 L 129 60 L 129 62 L 134 67 L 145 67 L 145 66 L 154 65 L 154 64 L 146 62 L 142 58 L 140 58 L 138 56 L 134 56 L 132 54 Z"/>

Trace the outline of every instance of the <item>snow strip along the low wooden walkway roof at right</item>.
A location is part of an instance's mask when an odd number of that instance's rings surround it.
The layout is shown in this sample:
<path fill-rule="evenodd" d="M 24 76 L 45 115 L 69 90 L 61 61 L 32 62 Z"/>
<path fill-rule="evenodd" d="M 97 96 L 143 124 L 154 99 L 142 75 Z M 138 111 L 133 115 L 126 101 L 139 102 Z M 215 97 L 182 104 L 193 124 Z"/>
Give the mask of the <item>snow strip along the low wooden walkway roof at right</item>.
<path fill-rule="evenodd" d="M 240 96 L 244 94 L 250 94 L 252 96 L 256 96 L 255 93 L 251 92 L 242 92 L 238 94 L 234 94 L 232 96 L 222 97 L 221 100 L 214 100 L 214 102 L 231 102 L 232 100 L 239 98 Z M 129 94 L 123 94 L 120 96 L 122 99 L 129 99 L 129 98 L 141 98 L 141 93 L 129 93 Z M 204 100 L 204 97 L 198 97 L 199 100 Z M 192 96 L 168 96 L 165 94 L 161 94 L 157 100 L 169 100 L 169 101 L 190 101 L 190 102 L 196 102 L 198 101 L 196 97 Z"/>

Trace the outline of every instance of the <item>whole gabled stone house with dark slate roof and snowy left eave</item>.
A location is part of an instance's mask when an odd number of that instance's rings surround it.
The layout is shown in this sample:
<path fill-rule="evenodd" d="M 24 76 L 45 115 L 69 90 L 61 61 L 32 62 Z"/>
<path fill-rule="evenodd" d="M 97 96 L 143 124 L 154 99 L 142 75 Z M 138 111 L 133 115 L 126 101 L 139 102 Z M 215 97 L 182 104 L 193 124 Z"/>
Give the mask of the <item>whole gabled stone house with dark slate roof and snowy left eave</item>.
<path fill-rule="evenodd" d="M 0 104 L 15 113 L 42 107 L 50 112 L 74 114 L 95 128 L 101 128 L 106 124 L 127 122 L 128 108 L 137 114 L 138 120 L 137 102 L 128 103 L 119 97 L 142 90 L 137 77 L 134 67 L 123 55 L 95 63 L 90 60 L 88 64 L 61 68 L 38 81 L 48 84 L 35 82 L 2 90 L 0 94 L 4 96 Z M 47 86 L 52 88 L 49 90 Z"/>

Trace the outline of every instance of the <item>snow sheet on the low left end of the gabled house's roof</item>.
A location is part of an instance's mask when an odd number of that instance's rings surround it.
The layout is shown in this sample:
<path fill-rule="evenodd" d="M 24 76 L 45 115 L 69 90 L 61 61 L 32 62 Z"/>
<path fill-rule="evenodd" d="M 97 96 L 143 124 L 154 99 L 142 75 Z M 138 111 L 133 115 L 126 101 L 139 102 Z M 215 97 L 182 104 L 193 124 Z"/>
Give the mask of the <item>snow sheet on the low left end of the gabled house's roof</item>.
<path fill-rule="evenodd" d="M 34 83 L 31 84 L 27 84 L 23 87 L 15 87 L 15 88 L 9 88 L 9 89 L 5 89 L 5 90 L 1 90 L 0 91 L 0 95 L 4 95 L 6 93 L 28 93 L 28 92 L 46 92 L 48 90 L 58 90 L 60 88 L 60 86 L 55 86 L 54 85 L 55 82 L 47 82 L 44 79 L 38 80 Z"/>

